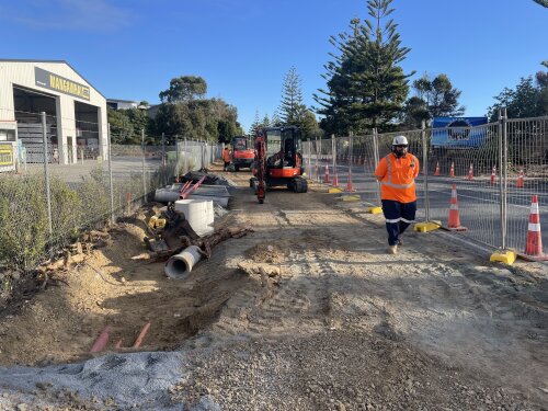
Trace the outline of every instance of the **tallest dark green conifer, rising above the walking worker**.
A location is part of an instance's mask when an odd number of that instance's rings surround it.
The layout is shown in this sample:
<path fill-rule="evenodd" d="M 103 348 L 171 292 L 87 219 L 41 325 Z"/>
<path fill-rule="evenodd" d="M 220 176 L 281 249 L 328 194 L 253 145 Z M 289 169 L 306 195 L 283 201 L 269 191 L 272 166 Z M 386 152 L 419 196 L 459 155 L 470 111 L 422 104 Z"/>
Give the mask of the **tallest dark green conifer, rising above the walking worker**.
<path fill-rule="evenodd" d="M 326 65 L 328 90 L 315 94 L 324 116 L 321 125 L 328 134 L 364 132 L 393 127 L 393 119 L 403 110 L 414 72 L 404 75 L 399 64 L 410 52 L 401 46 L 397 24 L 389 19 L 392 0 L 368 0 L 368 20 L 352 20 L 352 34 L 332 36 L 339 54 Z"/>

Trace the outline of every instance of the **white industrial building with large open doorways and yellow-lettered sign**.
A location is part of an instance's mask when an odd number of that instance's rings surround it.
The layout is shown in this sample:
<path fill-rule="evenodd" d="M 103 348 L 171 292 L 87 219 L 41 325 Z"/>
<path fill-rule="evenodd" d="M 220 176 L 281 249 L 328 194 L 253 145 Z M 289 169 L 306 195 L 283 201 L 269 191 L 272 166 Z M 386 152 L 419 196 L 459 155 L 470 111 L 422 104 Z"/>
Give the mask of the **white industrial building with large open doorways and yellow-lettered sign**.
<path fill-rule="evenodd" d="M 20 160 L 43 162 L 44 128 L 49 162 L 105 159 L 106 99 L 67 61 L 0 59 L 0 165 L 8 167 L 9 142 Z"/>

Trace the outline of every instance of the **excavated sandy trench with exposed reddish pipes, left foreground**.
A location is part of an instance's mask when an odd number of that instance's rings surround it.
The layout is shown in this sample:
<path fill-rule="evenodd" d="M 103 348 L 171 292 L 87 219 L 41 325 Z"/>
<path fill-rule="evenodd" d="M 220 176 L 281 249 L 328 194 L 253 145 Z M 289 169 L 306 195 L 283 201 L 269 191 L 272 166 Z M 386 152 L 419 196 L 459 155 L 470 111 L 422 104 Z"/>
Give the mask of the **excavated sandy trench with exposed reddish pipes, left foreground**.
<path fill-rule="evenodd" d="M 1 311 L 0 365 L 174 350 L 215 321 L 246 276 L 215 270 L 178 281 L 165 276 L 163 262 L 132 260 L 145 251 L 145 220 L 140 215 L 113 227 L 107 241 L 77 264 L 49 271 L 45 287 L 37 278 L 22 284 Z M 222 255 L 207 264 L 221 265 Z M 98 343 L 98 353 L 90 353 Z"/>

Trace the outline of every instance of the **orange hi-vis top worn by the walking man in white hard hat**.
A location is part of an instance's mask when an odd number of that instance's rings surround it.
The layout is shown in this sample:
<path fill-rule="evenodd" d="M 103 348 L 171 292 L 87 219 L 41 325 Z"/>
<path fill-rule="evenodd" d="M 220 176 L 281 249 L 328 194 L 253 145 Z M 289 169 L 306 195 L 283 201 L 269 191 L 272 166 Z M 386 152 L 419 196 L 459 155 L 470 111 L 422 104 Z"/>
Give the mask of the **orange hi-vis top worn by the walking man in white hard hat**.
<path fill-rule="evenodd" d="M 380 198 L 400 203 L 416 201 L 414 179 L 419 174 L 419 160 L 411 153 L 397 158 L 393 153 L 380 159 L 375 176 L 380 182 Z"/>

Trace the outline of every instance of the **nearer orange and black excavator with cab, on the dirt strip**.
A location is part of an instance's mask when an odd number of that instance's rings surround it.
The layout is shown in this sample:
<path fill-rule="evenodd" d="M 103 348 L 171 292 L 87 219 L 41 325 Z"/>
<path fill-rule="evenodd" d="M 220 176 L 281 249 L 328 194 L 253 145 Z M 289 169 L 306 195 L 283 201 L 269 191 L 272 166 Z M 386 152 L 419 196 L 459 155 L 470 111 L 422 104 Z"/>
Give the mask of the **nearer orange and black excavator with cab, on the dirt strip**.
<path fill-rule="evenodd" d="M 300 153 L 300 130 L 295 126 L 259 129 L 255 137 L 255 160 L 250 186 L 260 204 L 266 190 L 287 186 L 295 193 L 306 193 L 308 184 Z"/>

